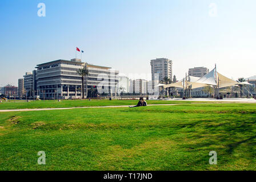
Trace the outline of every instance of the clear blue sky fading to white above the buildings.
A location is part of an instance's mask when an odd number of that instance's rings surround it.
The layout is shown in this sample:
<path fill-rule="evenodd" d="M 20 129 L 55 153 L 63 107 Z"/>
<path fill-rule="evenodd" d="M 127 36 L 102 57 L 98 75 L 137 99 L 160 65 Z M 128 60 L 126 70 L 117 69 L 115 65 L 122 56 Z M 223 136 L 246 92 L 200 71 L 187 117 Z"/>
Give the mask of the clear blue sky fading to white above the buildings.
<path fill-rule="evenodd" d="M 37 16 L 38 3 L 46 17 Z M 217 16 L 210 16 L 210 3 Z M 255 0 L 1 0 L 0 86 L 17 85 L 35 65 L 75 57 L 121 73 L 150 73 L 150 60 L 189 68 L 217 63 L 237 79 L 256 75 Z"/>

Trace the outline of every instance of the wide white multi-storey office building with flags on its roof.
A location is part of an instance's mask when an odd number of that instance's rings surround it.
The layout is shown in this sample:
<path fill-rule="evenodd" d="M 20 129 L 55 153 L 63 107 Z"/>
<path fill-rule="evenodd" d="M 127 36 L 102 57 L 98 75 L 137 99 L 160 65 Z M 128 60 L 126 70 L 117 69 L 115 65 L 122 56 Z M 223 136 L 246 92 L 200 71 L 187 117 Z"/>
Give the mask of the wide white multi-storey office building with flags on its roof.
<path fill-rule="evenodd" d="M 98 93 L 117 93 L 118 71 L 109 67 L 83 63 L 80 59 L 55 60 L 37 65 L 37 91 L 40 98 L 81 98 L 82 79 L 77 73 L 86 68 L 89 75 L 84 79 L 85 96 Z"/>

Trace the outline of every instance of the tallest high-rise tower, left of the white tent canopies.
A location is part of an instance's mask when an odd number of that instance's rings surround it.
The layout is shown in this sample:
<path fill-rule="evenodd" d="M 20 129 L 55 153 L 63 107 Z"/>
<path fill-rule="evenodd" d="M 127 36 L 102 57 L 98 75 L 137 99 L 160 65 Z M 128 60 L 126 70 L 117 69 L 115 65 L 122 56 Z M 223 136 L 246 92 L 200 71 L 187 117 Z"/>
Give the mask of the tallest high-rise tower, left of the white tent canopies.
<path fill-rule="evenodd" d="M 155 74 L 159 75 L 159 81 L 167 77 L 173 80 L 173 61 L 166 58 L 159 58 L 150 61 L 152 80 L 155 80 Z"/>

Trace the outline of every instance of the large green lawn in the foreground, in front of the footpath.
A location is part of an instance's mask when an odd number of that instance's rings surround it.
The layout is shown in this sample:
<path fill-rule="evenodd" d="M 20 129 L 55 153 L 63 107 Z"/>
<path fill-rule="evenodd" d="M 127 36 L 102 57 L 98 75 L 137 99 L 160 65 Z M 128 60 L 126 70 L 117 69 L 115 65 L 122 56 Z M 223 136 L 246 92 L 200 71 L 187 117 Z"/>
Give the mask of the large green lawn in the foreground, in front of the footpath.
<path fill-rule="evenodd" d="M 256 104 L 1 113 L 0 170 L 255 170 L 255 132 Z"/>

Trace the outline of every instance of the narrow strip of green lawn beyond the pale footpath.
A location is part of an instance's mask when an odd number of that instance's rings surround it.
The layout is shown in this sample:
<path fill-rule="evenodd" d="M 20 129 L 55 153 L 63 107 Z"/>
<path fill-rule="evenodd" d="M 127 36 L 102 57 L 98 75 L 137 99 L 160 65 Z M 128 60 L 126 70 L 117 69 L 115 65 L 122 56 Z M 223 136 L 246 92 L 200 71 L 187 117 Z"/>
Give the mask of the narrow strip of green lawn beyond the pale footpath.
<path fill-rule="evenodd" d="M 2 102 L 0 109 L 33 109 L 33 108 L 63 108 L 63 107 L 85 107 L 85 106 L 119 106 L 137 105 L 138 100 L 54 100 L 31 101 L 31 102 Z M 147 101 L 147 104 L 180 104 L 201 103 L 198 101 Z"/>

